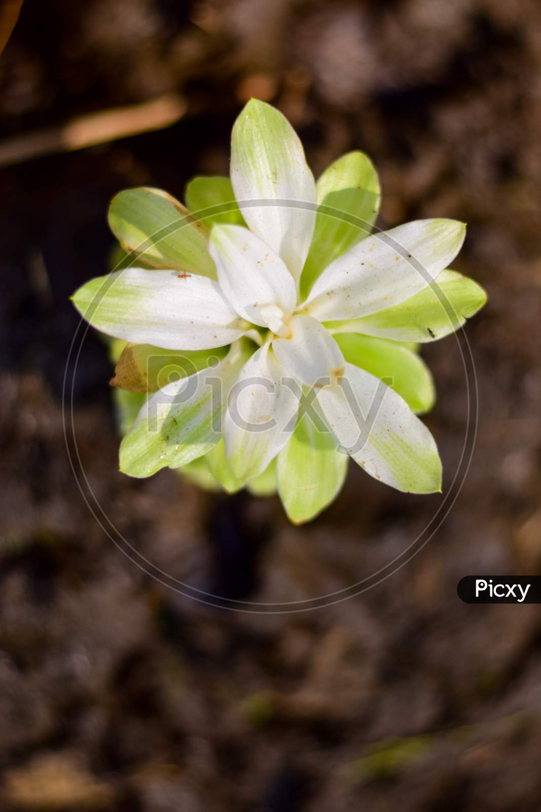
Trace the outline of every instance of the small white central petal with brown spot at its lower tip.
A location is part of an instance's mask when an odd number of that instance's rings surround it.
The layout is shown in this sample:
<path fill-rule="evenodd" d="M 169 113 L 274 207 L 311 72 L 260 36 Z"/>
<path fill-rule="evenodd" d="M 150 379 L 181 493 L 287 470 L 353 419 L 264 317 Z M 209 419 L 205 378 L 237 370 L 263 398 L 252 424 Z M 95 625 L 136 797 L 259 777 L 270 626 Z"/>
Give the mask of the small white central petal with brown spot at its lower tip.
<path fill-rule="evenodd" d="M 311 316 L 292 316 L 290 337 L 274 339 L 273 350 L 287 371 L 311 387 L 343 374 L 344 357 L 333 336 Z"/>

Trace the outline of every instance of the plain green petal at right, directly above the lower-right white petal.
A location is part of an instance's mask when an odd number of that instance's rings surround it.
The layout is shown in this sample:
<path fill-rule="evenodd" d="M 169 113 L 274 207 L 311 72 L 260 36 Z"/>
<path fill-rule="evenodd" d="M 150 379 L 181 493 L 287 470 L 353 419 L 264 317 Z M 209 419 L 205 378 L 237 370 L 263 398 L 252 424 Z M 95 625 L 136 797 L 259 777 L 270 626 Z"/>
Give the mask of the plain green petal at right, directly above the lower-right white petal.
<path fill-rule="evenodd" d="M 400 343 L 357 333 L 337 333 L 334 338 L 350 364 L 365 369 L 406 400 L 416 414 L 429 412 L 436 401 L 432 374 L 417 355 Z"/>

